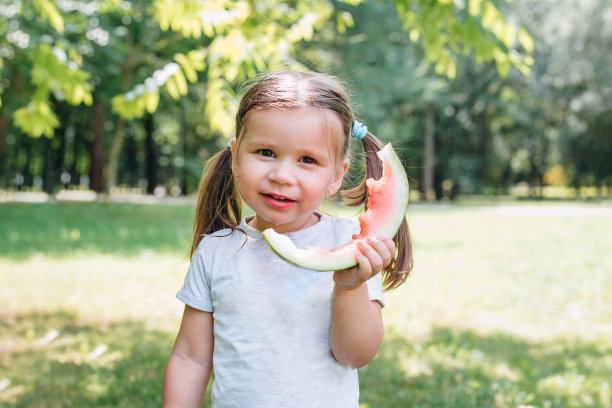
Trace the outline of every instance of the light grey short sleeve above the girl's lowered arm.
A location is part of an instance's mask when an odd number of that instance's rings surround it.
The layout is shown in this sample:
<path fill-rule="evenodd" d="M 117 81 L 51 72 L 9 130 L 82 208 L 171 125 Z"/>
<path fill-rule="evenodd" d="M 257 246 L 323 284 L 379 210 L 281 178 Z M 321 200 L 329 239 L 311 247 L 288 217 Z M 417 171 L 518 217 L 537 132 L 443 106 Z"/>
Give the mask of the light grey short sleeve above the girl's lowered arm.
<path fill-rule="evenodd" d="M 176 297 L 188 306 L 204 312 L 212 312 L 213 304 L 210 294 L 210 276 L 206 270 L 202 245 L 198 247 L 187 271 L 185 283 Z"/>

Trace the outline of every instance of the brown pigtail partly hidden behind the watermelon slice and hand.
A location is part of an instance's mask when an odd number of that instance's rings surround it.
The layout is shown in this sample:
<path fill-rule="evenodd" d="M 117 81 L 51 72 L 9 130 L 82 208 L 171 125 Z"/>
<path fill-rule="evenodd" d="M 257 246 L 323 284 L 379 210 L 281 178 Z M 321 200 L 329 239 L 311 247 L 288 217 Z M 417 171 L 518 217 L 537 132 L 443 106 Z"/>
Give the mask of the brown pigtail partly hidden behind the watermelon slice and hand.
<path fill-rule="evenodd" d="M 383 165 L 376 153 L 383 148 L 383 145 L 380 140 L 370 132 L 368 132 L 361 141 L 363 142 L 363 151 L 365 153 L 365 177 L 357 187 L 342 191 L 341 196 L 346 205 L 351 207 L 363 205 L 367 210 L 368 188 L 366 186 L 366 180 L 368 178 L 378 180 L 382 176 Z M 393 242 L 395 242 L 397 253 L 391 263 L 381 271 L 385 290 L 399 287 L 406 281 L 408 274 L 412 270 L 412 241 L 406 218 L 404 218 L 402 225 L 393 237 Z"/>

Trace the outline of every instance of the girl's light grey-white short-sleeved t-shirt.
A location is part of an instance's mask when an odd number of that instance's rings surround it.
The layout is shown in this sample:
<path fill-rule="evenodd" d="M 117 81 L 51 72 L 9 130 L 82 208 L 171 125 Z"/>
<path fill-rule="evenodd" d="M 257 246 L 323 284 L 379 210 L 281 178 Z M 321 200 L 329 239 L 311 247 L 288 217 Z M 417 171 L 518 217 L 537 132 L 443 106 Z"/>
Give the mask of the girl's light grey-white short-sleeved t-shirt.
<path fill-rule="evenodd" d="M 238 228 L 200 242 L 177 294 L 213 314 L 213 407 L 357 408 L 357 371 L 329 345 L 332 273 L 283 261 L 246 220 Z M 332 249 L 358 232 L 355 220 L 321 214 L 287 235 L 301 248 Z M 367 286 L 382 305 L 380 274 Z"/>

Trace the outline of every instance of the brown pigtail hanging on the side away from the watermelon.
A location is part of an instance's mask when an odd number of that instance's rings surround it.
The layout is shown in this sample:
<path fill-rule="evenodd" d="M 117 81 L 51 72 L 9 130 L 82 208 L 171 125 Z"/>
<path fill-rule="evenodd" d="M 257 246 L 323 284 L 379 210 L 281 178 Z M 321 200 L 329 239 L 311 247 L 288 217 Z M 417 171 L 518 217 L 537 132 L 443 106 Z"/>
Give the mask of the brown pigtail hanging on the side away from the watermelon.
<path fill-rule="evenodd" d="M 232 175 L 232 154 L 229 148 L 225 148 L 204 166 L 189 257 L 193 257 L 204 236 L 225 228 L 236 229 L 241 213 L 242 200 Z"/>

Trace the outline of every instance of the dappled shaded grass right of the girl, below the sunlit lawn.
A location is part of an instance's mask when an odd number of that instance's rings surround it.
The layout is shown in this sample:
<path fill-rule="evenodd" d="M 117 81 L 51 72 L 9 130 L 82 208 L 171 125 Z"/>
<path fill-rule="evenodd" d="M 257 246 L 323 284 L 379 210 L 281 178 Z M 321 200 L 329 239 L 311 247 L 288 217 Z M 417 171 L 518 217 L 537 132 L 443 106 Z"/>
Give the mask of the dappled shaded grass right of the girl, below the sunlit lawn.
<path fill-rule="evenodd" d="M 360 370 L 362 406 L 612 406 L 612 347 L 437 328 L 422 344 L 387 333 Z"/>

